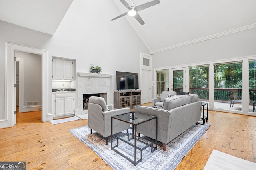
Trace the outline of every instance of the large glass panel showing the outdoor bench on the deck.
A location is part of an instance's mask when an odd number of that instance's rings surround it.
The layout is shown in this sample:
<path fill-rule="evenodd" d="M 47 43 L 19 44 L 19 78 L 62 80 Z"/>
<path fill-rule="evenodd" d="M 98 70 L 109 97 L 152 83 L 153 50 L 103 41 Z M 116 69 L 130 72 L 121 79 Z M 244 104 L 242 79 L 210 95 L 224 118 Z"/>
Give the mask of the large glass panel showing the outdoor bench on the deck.
<path fill-rule="evenodd" d="M 214 107 L 242 110 L 242 62 L 214 65 Z"/>

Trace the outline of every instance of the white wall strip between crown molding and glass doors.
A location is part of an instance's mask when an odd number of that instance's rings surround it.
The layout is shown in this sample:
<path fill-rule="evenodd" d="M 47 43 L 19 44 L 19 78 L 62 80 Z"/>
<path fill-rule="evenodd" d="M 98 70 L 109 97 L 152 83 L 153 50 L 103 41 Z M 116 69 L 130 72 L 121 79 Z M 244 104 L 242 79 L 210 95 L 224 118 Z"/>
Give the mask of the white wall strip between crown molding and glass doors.
<path fill-rule="evenodd" d="M 153 68 L 206 63 L 256 54 L 256 28 L 155 53 Z"/>

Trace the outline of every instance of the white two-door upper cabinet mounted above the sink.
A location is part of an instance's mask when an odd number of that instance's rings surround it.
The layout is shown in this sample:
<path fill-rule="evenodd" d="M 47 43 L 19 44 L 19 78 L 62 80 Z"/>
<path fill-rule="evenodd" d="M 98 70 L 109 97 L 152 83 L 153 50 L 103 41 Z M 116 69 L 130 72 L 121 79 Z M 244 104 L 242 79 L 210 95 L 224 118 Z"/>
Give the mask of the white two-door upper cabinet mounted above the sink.
<path fill-rule="evenodd" d="M 52 59 L 53 80 L 73 80 L 73 61 L 64 59 Z"/>

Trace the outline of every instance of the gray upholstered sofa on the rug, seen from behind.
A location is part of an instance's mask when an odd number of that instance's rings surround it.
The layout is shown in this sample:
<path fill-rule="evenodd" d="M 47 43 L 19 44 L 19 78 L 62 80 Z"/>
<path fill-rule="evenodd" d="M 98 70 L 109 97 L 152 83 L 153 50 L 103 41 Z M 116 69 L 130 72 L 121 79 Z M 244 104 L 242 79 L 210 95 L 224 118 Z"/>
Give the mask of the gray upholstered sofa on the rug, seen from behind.
<path fill-rule="evenodd" d="M 147 106 L 136 106 L 135 112 L 157 116 L 157 140 L 166 144 L 196 124 L 201 117 L 202 101 L 197 94 L 165 98 L 162 109 Z M 138 125 L 137 132 L 155 138 L 155 120 Z"/>

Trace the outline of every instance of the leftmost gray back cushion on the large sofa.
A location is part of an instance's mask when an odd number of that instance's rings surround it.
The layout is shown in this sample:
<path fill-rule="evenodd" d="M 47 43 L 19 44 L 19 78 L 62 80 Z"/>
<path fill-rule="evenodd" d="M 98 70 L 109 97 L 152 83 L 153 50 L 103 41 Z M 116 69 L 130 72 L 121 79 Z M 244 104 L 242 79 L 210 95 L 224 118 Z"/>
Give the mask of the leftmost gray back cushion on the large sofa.
<path fill-rule="evenodd" d="M 181 96 L 173 96 L 170 98 L 165 98 L 162 109 L 170 110 L 176 107 L 182 106 L 182 98 Z"/>

